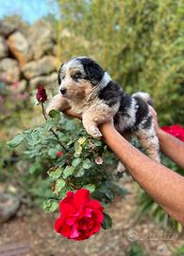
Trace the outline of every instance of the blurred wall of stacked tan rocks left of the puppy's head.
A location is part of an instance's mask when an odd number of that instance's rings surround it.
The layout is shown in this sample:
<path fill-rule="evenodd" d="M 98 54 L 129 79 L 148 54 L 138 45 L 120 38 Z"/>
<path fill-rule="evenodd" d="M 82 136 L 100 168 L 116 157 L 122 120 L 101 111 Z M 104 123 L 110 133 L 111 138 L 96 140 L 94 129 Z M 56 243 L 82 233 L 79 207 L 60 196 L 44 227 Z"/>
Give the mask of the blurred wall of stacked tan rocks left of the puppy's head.
<path fill-rule="evenodd" d="M 20 91 L 57 81 L 56 35 L 50 23 L 33 26 L 0 21 L 0 82 L 19 84 Z"/>

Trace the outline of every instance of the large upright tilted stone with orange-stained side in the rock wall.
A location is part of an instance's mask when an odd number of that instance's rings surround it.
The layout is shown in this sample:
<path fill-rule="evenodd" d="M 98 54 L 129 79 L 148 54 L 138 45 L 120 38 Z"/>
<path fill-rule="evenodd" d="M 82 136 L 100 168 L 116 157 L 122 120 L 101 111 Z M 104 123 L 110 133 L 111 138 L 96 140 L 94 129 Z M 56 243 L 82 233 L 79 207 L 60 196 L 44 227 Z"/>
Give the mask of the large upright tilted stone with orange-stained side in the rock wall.
<path fill-rule="evenodd" d="M 7 44 L 12 55 L 24 65 L 32 58 L 31 47 L 25 36 L 20 31 L 16 31 L 8 37 Z"/>

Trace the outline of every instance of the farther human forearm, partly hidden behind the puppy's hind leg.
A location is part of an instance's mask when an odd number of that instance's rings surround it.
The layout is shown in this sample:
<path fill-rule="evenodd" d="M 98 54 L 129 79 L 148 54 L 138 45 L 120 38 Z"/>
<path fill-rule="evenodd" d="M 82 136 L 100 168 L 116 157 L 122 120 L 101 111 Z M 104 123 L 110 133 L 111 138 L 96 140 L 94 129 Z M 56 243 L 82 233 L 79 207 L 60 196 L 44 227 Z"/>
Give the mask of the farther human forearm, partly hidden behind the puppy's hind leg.
<path fill-rule="evenodd" d="M 171 158 L 179 167 L 184 169 L 184 143 L 160 128 L 158 129 L 159 146 L 164 155 Z"/>

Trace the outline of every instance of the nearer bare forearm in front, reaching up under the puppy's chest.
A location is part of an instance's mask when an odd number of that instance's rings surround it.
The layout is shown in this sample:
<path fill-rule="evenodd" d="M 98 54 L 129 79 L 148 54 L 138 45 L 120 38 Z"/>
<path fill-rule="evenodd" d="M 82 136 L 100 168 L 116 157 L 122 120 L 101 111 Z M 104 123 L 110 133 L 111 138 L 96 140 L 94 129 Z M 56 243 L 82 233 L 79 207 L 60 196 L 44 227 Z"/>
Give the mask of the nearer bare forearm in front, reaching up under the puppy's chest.
<path fill-rule="evenodd" d="M 100 129 L 109 147 L 142 189 L 184 225 L 184 177 L 143 155 L 109 123 L 101 125 Z"/>

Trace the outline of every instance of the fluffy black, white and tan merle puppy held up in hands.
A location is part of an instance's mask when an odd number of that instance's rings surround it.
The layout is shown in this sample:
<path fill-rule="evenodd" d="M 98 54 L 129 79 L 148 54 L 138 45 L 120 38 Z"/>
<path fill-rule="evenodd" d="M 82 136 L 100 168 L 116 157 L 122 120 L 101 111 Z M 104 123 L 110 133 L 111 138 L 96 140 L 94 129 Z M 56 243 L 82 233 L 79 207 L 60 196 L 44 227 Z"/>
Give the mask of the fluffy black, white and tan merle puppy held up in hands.
<path fill-rule="evenodd" d="M 113 118 L 120 134 L 138 137 L 147 155 L 159 161 L 159 140 L 154 129 L 145 93 L 127 95 L 104 69 L 88 57 L 75 57 L 61 64 L 59 94 L 53 97 L 47 113 L 72 108 L 82 114 L 83 125 L 92 137 L 101 137 L 98 124 Z"/>

